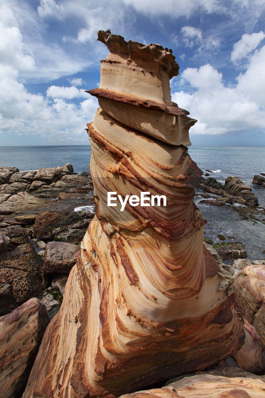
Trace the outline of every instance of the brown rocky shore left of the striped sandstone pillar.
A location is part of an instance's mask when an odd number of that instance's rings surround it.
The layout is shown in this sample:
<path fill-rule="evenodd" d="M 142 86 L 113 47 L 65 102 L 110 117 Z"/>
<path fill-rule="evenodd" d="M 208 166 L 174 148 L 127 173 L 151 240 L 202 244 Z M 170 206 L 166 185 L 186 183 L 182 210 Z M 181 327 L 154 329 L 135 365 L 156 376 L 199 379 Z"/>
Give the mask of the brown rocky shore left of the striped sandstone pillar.
<path fill-rule="evenodd" d="M 51 318 L 94 217 L 92 179 L 67 163 L 30 172 L 0 167 L 0 183 L 0 315 L 37 296 Z"/>

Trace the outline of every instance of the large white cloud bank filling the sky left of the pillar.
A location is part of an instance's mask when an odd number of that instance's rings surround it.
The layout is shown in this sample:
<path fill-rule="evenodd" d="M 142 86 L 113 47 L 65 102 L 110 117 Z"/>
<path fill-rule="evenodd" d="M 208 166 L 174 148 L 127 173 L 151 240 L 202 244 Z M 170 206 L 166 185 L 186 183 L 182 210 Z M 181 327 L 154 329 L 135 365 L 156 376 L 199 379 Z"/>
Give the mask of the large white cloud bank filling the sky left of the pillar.
<path fill-rule="evenodd" d="M 16 1 L 10 3 L 13 9 L 7 5 L 0 9 L 0 132 L 39 135 L 46 137 L 47 142 L 82 136 L 87 141 L 84 129 L 97 109 L 95 98 L 88 98 L 84 90 L 74 86 L 51 86 L 47 96 L 31 94 L 19 82 L 21 76 L 27 74 L 38 74 L 43 78 L 61 76 L 62 71 L 71 74 L 79 70 L 80 64 L 65 57 L 58 45 L 53 47 L 39 43 L 38 48 L 36 43 L 36 47 L 34 43 L 30 43 L 30 47 L 28 43 L 26 45 L 19 28 L 18 4 Z M 21 9 L 21 14 L 24 11 Z M 26 14 L 30 21 L 32 15 Z M 57 51 L 57 59 L 51 62 L 54 50 Z M 40 59 L 43 60 L 41 67 L 38 64 Z M 82 84 L 82 79 L 73 81 Z M 79 98 L 81 102 L 68 103 L 73 98 Z"/>

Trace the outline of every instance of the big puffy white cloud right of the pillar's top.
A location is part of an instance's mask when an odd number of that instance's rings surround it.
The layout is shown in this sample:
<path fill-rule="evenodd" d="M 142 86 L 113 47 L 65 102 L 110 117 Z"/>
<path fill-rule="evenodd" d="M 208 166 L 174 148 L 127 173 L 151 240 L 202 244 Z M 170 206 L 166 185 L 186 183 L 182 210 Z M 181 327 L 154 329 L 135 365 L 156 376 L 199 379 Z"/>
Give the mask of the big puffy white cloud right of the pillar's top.
<path fill-rule="evenodd" d="M 191 134 L 219 135 L 229 132 L 251 132 L 265 128 L 265 46 L 251 57 L 238 84 L 226 86 L 222 74 L 207 64 L 200 68 L 187 68 L 180 76 L 181 84 L 190 84 L 188 94 L 181 90 L 172 94 L 179 107 L 187 109 L 198 122 Z"/>

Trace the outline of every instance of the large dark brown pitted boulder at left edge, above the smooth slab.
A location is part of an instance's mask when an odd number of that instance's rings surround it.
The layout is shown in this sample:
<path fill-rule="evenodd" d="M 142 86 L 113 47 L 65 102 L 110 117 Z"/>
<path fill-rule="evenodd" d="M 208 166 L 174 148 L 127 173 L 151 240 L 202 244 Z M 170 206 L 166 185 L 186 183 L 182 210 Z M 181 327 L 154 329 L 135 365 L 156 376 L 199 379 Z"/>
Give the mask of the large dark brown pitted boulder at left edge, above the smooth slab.
<path fill-rule="evenodd" d="M 8 236 L 7 249 L 0 254 L 0 315 L 28 300 L 44 284 L 41 263 L 21 226 L 0 230 Z"/>

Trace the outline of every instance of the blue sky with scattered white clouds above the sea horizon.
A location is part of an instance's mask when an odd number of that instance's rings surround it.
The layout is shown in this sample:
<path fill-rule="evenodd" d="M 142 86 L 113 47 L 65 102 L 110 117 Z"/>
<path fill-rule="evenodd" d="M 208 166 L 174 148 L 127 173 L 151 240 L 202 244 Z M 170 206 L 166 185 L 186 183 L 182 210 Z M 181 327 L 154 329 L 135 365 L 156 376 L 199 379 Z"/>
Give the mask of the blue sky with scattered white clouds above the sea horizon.
<path fill-rule="evenodd" d="M 0 0 L 0 146 L 89 144 L 99 29 L 173 50 L 195 145 L 265 145 L 265 0 Z"/>

